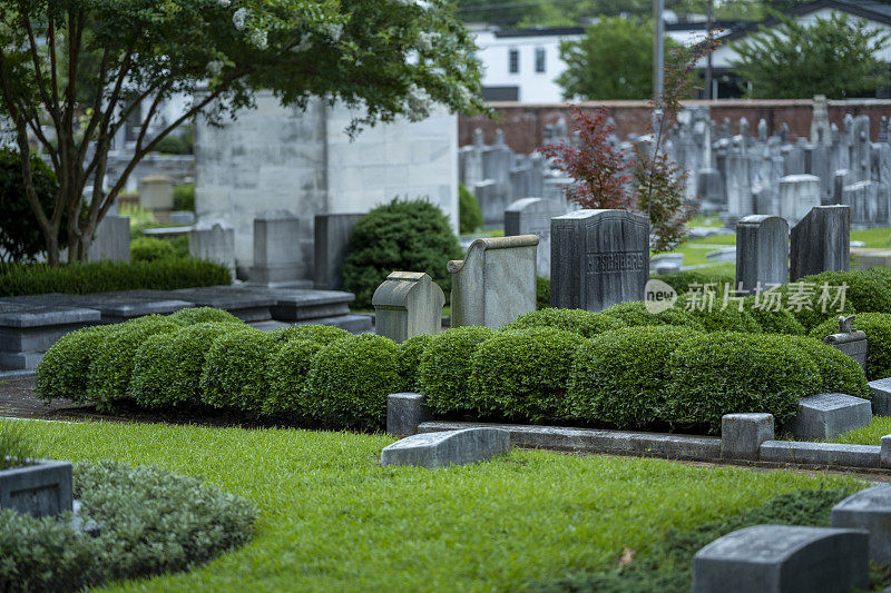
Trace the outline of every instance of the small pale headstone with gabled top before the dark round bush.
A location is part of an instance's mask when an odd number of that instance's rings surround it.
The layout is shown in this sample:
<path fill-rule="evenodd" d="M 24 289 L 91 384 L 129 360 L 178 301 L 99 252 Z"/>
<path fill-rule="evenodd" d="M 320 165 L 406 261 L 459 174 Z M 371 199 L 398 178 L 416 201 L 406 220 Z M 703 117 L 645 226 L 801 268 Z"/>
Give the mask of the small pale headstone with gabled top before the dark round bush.
<path fill-rule="evenodd" d="M 374 290 L 374 330 L 402 344 L 422 334 L 435 335 L 442 326 L 446 296 L 422 271 L 393 271 Z"/>

